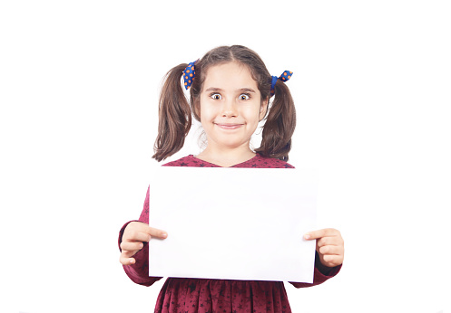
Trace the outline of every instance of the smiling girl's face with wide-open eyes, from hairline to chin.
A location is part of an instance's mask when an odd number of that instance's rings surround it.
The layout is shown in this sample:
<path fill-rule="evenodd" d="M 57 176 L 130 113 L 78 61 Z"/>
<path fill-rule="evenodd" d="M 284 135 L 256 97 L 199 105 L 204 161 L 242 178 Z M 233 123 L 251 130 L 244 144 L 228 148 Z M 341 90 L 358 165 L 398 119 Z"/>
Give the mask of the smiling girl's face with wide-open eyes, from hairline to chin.
<path fill-rule="evenodd" d="M 266 113 L 257 81 L 247 66 L 228 62 L 212 66 L 201 90 L 201 124 L 208 147 L 248 147 Z M 264 104 L 265 103 L 265 104 Z"/>

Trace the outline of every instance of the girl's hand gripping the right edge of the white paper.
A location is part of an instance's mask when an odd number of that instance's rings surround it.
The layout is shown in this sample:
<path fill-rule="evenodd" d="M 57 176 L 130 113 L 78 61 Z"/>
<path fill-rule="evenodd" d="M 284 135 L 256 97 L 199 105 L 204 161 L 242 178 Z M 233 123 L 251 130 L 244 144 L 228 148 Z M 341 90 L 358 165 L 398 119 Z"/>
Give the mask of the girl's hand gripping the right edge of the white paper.
<path fill-rule="evenodd" d="M 345 245 L 341 233 L 333 228 L 308 232 L 304 235 L 306 240 L 317 240 L 317 251 L 321 264 L 333 268 L 343 263 Z"/>

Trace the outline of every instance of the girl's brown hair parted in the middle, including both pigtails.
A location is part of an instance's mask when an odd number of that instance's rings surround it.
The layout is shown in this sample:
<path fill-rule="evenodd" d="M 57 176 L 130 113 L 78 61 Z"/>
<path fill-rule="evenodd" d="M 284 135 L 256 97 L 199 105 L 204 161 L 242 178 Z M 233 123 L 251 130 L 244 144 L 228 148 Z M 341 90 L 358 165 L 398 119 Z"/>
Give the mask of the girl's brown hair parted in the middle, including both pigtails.
<path fill-rule="evenodd" d="M 201 90 L 205 73 L 211 66 L 226 62 L 240 62 L 246 65 L 252 78 L 257 82 L 261 100 L 270 99 L 271 75 L 260 56 L 241 45 L 221 46 L 207 52 L 195 64 L 196 77 L 190 89 L 190 103 L 183 94 L 181 77 L 188 64 L 174 67 L 165 76 L 160 95 L 158 136 L 152 156 L 162 161 L 183 147 L 186 135 L 191 128 L 191 114 L 201 121 L 198 115 L 201 104 Z M 279 158 L 287 161 L 291 148 L 291 136 L 296 128 L 296 110 L 289 88 L 277 81 L 274 100 L 263 127 L 261 146 L 255 149 L 261 156 Z"/>

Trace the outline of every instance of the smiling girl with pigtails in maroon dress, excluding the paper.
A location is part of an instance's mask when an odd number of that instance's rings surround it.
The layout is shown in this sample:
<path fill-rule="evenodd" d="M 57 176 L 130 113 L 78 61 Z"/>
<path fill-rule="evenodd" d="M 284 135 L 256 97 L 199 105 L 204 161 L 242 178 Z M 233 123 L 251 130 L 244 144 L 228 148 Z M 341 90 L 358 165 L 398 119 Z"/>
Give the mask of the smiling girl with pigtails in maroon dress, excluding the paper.
<path fill-rule="evenodd" d="M 285 84 L 291 74 L 285 71 L 279 78 L 271 77 L 257 53 L 238 45 L 213 49 L 197 62 L 174 67 L 162 88 L 153 157 L 162 161 L 181 149 L 192 115 L 201 121 L 207 147 L 198 156 L 185 156 L 164 166 L 292 168 L 286 161 L 296 115 Z M 190 89 L 190 102 L 182 86 Z M 250 138 L 265 118 L 261 146 L 252 151 Z M 148 190 L 139 221 L 123 225 L 119 236 L 123 269 L 132 281 L 144 286 L 162 279 L 149 277 L 148 242 L 152 237 L 168 236 L 148 224 L 149 196 Z M 309 232 L 304 238 L 317 241 L 314 282 L 290 282 L 297 288 L 335 276 L 344 255 L 337 230 Z M 155 307 L 155 312 L 290 311 L 281 281 L 181 278 L 166 280 Z"/>

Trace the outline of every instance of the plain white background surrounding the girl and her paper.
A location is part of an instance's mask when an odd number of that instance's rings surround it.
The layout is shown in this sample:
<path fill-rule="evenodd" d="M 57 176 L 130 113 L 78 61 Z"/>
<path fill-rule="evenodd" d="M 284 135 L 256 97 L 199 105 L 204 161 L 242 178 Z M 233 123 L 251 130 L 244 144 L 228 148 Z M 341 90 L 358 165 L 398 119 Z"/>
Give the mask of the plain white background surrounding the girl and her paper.
<path fill-rule="evenodd" d="M 345 239 L 336 278 L 287 284 L 293 311 L 449 308 L 448 2 L 155 3 L 1 3 L 1 311 L 153 310 L 162 281 L 126 277 L 117 233 L 157 164 L 162 77 L 235 43 L 294 71 L 289 161 L 319 168 L 319 226 Z"/>

